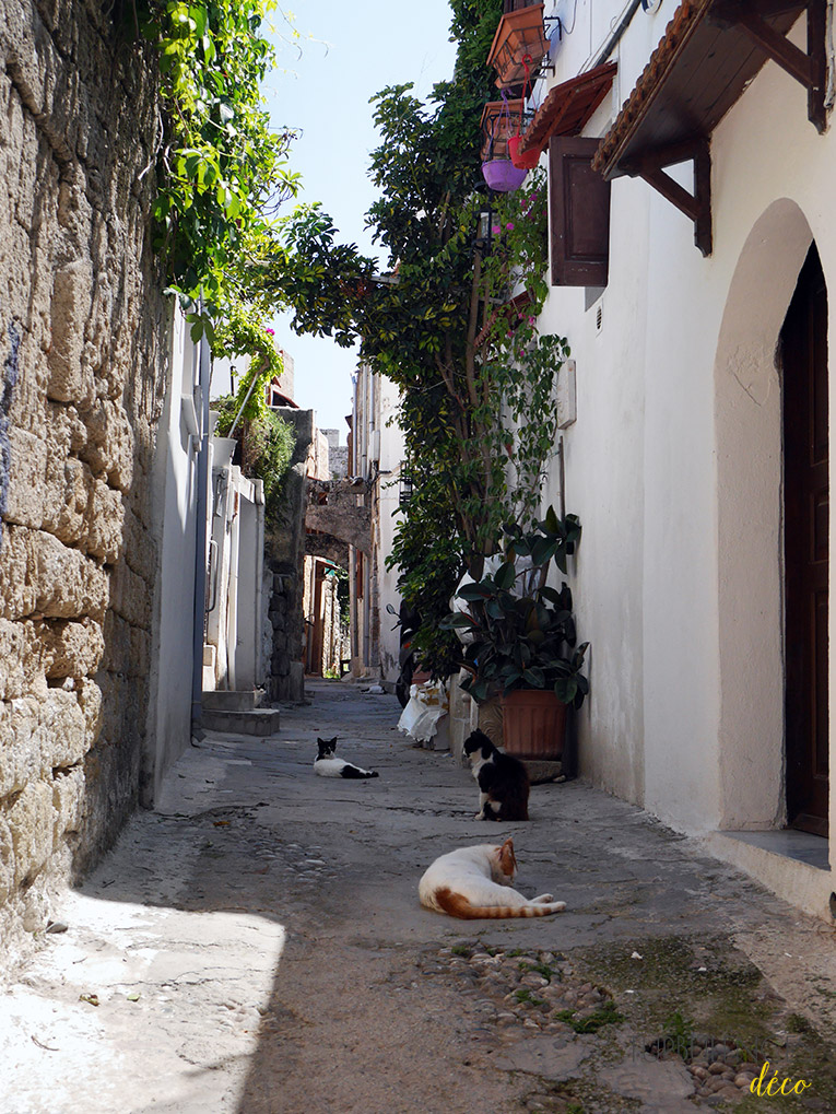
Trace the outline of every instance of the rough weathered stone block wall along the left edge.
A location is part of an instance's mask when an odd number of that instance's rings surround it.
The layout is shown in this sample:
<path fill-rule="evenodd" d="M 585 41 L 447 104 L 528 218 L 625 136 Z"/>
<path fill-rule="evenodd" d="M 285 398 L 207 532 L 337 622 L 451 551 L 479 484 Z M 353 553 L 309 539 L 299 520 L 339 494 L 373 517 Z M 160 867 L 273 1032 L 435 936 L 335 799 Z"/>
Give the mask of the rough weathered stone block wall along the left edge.
<path fill-rule="evenodd" d="M 0 944 L 114 839 L 147 715 L 155 65 L 102 10 L 0 19 Z"/>

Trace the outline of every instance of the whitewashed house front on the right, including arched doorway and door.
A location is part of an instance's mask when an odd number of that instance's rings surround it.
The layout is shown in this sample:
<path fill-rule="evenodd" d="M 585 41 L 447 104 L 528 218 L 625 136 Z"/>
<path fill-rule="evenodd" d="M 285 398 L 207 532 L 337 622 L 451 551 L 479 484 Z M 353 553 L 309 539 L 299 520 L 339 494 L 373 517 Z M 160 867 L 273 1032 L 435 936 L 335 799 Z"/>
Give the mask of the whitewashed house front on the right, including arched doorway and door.
<path fill-rule="evenodd" d="M 577 7 L 571 35 L 548 25 L 554 72 L 539 102 L 592 67 L 618 69 L 582 129 L 604 138 L 596 168 L 611 176 L 608 274 L 552 285 L 539 321 L 542 333 L 569 339 L 577 391 L 577 420 L 562 433 L 564 490 L 555 455 L 543 506 L 562 495 L 583 526 L 571 569 L 579 631 L 591 643 L 581 773 L 829 918 L 827 350 L 836 314 L 826 291 L 836 290 L 836 140 L 808 120 L 807 89 L 764 53 L 736 97 L 718 92 L 732 99 L 719 123 L 694 125 L 706 133 L 710 198 L 695 177 L 705 163 L 667 169 L 698 219 L 671 203 L 677 190 L 659 178 L 667 164 L 652 135 L 639 150 L 641 127 L 655 110 L 687 116 L 677 86 L 685 37 L 700 21 L 724 27 L 709 9 L 594 0 Z M 812 33 L 826 57 L 824 9 Z M 571 21 L 571 6 L 554 13 Z M 800 6 L 793 21 L 796 60 L 807 51 Z M 695 67 L 697 81 L 707 66 Z M 619 150 L 633 152 L 637 176 Z M 552 154 L 553 256 L 569 235 L 558 173 Z"/>

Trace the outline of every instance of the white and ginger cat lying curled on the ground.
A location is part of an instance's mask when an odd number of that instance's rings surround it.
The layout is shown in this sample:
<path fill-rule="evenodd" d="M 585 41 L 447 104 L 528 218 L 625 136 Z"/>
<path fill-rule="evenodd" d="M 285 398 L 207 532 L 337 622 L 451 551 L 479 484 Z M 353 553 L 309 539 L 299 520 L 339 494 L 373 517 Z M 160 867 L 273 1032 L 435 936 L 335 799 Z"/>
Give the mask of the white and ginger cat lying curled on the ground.
<path fill-rule="evenodd" d="M 511 889 L 517 859 L 510 839 L 502 844 L 461 847 L 436 859 L 419 882 L 421 905 L 463 920 L 483 917 L 548 917 L 565 909 L 551 893 L 525 898 Z"/>

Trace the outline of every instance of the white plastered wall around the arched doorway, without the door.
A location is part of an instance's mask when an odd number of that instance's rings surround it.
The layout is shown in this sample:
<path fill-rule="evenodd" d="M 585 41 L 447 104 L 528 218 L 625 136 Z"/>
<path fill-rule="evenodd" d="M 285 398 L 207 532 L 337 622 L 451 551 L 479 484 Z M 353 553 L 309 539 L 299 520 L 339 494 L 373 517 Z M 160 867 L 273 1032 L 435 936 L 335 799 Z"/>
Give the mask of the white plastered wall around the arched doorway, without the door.
<path fill-rule="evenodd" d="M 661 30 L 651 43 L 647 25 L 628 32 L 620 98 Z M 577 359 L 564 448 L 567 510 L 583 522 L 572 587 L 592 643 L 581 771 L 692 832 L 781 818 L 775 344 L 812 237 L 836 290 L 836 146 L 774 63 L 715 131 L 712 164 L 709 258 L 650 186 L 617 179 L 600 334 L 583 291 L 553 289 L 541 319 Z M 544 502 L 557 497 L 554 475 Z"/>

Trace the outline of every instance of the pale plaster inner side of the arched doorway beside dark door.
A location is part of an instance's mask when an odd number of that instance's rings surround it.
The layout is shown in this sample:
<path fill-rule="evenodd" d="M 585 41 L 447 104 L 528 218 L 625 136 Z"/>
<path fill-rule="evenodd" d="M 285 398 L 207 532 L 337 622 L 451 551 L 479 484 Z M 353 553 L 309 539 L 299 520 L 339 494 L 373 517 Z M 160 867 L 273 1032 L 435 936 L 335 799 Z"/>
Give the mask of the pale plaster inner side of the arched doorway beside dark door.
<path fill-rule="evenodd" d="M 813 233 L 774 202 L 731 280 L 715 360 L 720 825 L 779 827 L 784 794 L 781 381 L 776 349 Z"/>

